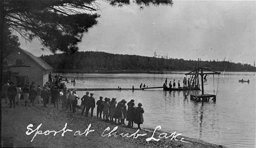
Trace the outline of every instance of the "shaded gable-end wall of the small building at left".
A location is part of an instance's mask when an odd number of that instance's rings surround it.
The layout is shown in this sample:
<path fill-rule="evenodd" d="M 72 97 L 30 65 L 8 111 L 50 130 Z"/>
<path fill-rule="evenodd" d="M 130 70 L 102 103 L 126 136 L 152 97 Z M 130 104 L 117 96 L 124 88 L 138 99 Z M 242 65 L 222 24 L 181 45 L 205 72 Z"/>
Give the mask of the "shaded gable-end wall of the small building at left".
<path fill-rule="evenodd" d="M 16 59 L 22 59 L 22 66 L 30 66 L 30 67 L 11 67 L 11 72 L 18 72 L 21 76 L 28 76 L 29 82 L 33 81 L 35 86 L 40 85 L 43 86 L 45 84 L 44 75 L 46 74 L 46 70 L 40 67 L 36 62 L 30 59 L 23 52 L 13 52 L 10 54 L 5 61 L 9 65 L 15 65 Z"/>

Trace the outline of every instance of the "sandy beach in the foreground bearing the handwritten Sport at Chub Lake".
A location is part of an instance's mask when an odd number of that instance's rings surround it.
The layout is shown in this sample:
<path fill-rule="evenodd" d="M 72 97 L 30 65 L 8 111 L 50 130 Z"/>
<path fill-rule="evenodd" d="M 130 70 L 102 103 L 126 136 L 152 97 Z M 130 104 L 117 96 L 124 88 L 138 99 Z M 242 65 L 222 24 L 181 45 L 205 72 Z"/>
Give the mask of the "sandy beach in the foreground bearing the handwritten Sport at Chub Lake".
<path fill-rule="evenodd" d="M 182 135 L 177 135 L 177 140 L 184 138 L 184 141 L 189 143 L 184 143 L 182 141 L 176 141 L 173 137 L 161 138 L 159 141 L 146 139 L 152 137 L 155 129 L 143 128 L 137 134 L 146 134 L 143 136 L 134 137 L 124 137 L 126 133 L 132 135 L 137 131 L 137 124 L 133 125 L 133 128 L 127 128 L 125 126 L 117 125 L 110 122 L 104 122 L 102 120 L 96 119 L 95 116 L 92 118 L 85 117 L 81 114 L 81 110 L 77 109 L 77 112 L 72 113 L 71 111 L 61 111 L 61 105 L 59 109 L 53 108 L 53 105 L 47 104 L 48 108 L 43 108 L 43 104 L 35 104 L 35 106 L 24 106 L 24 102 L 16 108 L 9 108 L 9 105 L 4 103 L 2 99 L 2 145 L 7 147 L 224 147 L 222 145 L 216 145 L 207 143 L 206 141 L 183 137 Z M 90 112 L 90 111 L 89 111 Z M 94 110 L 94 113 L 96 109 Z M 90 114 L 90 113 L 89 113 Z M 147 121 L 146 121 L 147 122 Z M 39 130 L 43 132 L 49 131 L 60 131 L 65 127 L 67 123 L 67 129 L 72 129 L 73 132 L 66 132 L 65 135 L 61 135 L 62 132 L 57 133 L 56 136 L 53 133 L 49 135 L 39 135 L 37 134 L 31 142 L 34 133 L 31 135 L 26 135 L 28 131 L 27 126 L 32 124 L 31 129 L 36 129 L 40 123 L 42 126 Z M 91 127 L 89 128 L 91 124 Z M 158 125 L 156 125 L 158 126 Z M 107 128 L 112 131 L 115 127 L 117 128 L 116 134 L 106 135 L 110 131 L 106 131 Z M 80 131 L 84 133 L 86 129 L 95 130 L 89 132 L 88 135 L 74 135 L 75 131 Z M 104 132 L 105 130 L 105 132 Z M 160 133 L 165 131 L 156 130 L 154 138 L 158 139 Z M 86 132 L 85 132 L 86 133 Z M 120 135 L 124 133 L 123 135 Z M 167 133 L 166 137 L 170 136 L 172 133 Z M 178 134 L 178 133 L 177 133 Z M 135 135 L 135 134 L 134 134 Z M 134 136 L 133 135 L 133 136 Z M 163 135 L 162 135 L 163 136 Z M 171 138 L 173 138 L 171 140 Z"/>

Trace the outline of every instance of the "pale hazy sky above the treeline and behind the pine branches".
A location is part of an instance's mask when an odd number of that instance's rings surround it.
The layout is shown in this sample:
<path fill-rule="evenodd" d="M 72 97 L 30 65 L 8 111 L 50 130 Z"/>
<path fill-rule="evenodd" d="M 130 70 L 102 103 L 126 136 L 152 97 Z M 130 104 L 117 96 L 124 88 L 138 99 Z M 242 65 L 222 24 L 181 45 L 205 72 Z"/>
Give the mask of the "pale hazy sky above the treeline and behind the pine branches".
<path fill-rule="evenodd" d="M 171 6 L 136 4 L 113 7 L 100 2 L 98 24 L 84 34 L 79 51 L 103 51 L 184 60 L 256 61 L 256 1 L 173 1 Z M 36 56 L 37 39 L 20 38 L 21 48 Z"/>

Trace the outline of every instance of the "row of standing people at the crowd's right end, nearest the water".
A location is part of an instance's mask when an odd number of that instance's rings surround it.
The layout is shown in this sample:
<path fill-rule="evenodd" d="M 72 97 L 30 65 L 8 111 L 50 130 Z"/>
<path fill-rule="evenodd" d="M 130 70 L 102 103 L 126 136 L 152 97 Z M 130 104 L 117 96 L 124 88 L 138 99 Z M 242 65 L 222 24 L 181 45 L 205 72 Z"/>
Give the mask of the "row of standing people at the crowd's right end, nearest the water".
<path fill-rule="evenodd" d="M 83 115 L 85 111 L 85 116 L 88 117 L 89 110 L 91 109 L 92 117 L 95 105 L 97 105 L 97 119 L 102 119 L 103 114 L 104 121 L 117 123 L 118 120 L 118 124 L 121 125 L 125 125 L 126 119 L 126 121 L 128 121 L 127 127 L 133 127 L 133 122 L 135 122 L 138 124 L 138 129 L 141 129 L 140 125 L 144 122 L 144 109 L 142 108 L 142 103 L 138 103 L 138 106 L 135 107 L 134 99 L 131 99 L 128 103 L 125 99 L 122 99 L 117 103 L 117 98 L 110 99 L 105 97 L 103 100 L 102 96 L 95 103 L 93 95 L 93 93 L 90 93 L 89 97 L 89 92 L 86 92 L 86 94 L 81 98 L 82 103 L 80 106 L 81 109 L 83 108 L 81 115 Z"/>

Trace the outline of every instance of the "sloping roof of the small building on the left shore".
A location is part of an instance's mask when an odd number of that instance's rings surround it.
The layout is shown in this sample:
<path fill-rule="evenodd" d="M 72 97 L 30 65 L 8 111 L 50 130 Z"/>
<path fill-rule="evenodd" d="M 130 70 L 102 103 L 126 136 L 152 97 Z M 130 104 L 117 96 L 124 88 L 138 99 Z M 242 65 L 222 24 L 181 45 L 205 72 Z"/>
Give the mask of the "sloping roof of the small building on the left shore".
<path fill-rule="evenodd" d="M 21 52 L 24 52 L 25 55 L 27 55 L 32 61 L 36 62 L 40 67 L 42 67 L 44 70 L 52 70 L 53 67 L 51 67 L 48 63 L 46 63 L 44 60 L 42 60 L 42 58 L 40 57 L 36 57 L 33 54 L 31 54 L 30 52 L 21 49 Z"/>

